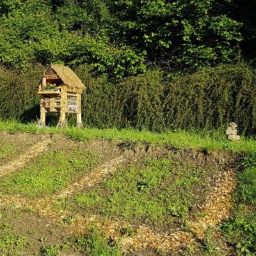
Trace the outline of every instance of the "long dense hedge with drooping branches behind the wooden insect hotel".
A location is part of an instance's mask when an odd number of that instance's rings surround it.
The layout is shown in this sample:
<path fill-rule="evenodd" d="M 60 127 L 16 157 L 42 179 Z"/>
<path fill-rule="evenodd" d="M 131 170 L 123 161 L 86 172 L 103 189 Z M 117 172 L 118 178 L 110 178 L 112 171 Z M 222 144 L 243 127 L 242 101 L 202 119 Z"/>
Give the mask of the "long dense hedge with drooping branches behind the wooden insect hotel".
<path fill-rule="evenodd" d="M 0 118 L 27 121 L 38 115 L 36 86 L 44 67 L 0 74 Z M 245 64 L 203 68 L 167 81 L 160 70 L 111 83 L 90 66 L 76 73 L 86 84 L 83 122 L 90 127 L 225 129 L 234 121 L 243 134 L 256 132 L 256 72 Z"/>

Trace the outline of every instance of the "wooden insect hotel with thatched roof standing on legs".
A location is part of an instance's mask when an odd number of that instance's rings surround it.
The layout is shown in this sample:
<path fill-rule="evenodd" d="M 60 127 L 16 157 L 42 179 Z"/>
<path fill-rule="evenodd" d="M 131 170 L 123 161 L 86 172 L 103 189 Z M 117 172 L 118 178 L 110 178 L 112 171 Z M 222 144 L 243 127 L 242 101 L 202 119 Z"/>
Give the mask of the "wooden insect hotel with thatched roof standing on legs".
<path fill-rule="evenodd" d="M 48 67 L 38 86 L 40 100 L 40 120 L 38 127 L 45 126 L 48 115 L 58 115 L 57 127 L 66 126 L 66 113 L 77 115 L 77 127 L 82 126 L 81 93 L 84 84 L 71 68 L 54 64 Z"/>

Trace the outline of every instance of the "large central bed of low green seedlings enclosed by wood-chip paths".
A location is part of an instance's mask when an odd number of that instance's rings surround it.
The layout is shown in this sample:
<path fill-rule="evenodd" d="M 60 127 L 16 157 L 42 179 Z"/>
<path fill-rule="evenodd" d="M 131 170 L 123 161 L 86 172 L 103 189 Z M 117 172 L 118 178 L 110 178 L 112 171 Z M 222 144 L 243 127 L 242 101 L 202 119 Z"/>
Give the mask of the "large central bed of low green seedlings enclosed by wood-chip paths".
<path fill-rule="evenodd" d="M 212 171 L 189 164 L 151 159 L 142 168 L 122 168 L 102 186 L 62 199 L 56 207 L 162 227 L 185 220 L 196 202 L 195 190 L 204 186 L 205 175 Z"/>

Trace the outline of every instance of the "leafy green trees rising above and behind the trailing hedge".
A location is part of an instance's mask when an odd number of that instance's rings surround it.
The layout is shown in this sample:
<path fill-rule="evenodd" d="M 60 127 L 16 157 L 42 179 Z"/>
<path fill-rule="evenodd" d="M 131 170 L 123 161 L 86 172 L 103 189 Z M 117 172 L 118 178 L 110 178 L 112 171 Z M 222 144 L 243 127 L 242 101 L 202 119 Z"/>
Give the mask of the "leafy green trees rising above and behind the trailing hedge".
<path fill-rule="evenodd" d="M 115 78 L 156 66 L 184 72 L 230 63 L 239 49 L 255 55 L 249 2 L 3 0 L 0 63 L 21 70 L 31 62 L 86 63 Z"/>

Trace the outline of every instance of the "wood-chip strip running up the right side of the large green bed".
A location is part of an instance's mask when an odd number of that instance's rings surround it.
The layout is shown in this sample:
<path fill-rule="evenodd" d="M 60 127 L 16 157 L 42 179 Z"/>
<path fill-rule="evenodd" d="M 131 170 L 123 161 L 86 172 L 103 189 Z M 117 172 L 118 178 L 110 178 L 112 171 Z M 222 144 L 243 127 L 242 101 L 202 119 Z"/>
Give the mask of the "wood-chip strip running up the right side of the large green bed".
<path fill-rule="evenodd" d="M 214 227 L 227 220 L 232 206 L 230 199 L 236 188 L 236 170 L 230 168 L 216 177 L 215 186 L 211 188 L 199 211 L 201 218 L 191 221 L 189 228 L 199 239 L 204 239 L 208 227 Z"/>

